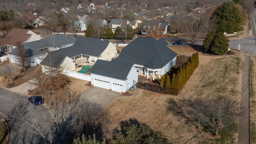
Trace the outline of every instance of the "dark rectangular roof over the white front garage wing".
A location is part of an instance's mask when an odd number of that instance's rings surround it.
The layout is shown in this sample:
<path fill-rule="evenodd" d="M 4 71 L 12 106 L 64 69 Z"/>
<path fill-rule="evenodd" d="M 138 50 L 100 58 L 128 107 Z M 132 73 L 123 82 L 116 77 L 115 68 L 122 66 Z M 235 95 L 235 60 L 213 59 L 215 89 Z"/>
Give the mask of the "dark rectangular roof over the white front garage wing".
<path fill-rule="evenodd" d="M 97 60 L 92 69 L 91 74 L 98 74 L 119 80 L 125 80 L 132 68 L 132 65 L 120 64 L 112 61 Z"/>

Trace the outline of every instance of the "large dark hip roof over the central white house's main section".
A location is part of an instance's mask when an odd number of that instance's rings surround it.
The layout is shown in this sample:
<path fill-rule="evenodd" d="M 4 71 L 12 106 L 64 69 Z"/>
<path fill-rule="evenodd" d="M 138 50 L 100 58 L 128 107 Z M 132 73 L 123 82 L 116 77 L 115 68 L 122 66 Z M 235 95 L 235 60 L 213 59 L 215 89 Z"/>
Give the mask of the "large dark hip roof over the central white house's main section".
<path fill-rule="evenodd" d="M 178 54 L 167 47 L 168 43 L 161 38 L 138 37 L 122 49 L 118 58 L 112 62 L 120 64 L 139 64 L 146 68 L 162 68 Z"/>

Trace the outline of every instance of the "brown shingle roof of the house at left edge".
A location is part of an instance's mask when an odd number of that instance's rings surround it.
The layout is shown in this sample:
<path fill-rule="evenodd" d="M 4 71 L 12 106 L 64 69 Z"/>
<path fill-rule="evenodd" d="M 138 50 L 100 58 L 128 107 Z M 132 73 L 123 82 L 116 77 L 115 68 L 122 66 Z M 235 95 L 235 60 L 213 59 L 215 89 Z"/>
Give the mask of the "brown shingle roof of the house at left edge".
<path fill-rule="evenodd" d="M 32 34 L 27 34 L 28 30 L 13 28 L 6 37 L 0 38 L 0 46 L 10 45 L 17 46 L 17 42 L 24 43 Z"/>

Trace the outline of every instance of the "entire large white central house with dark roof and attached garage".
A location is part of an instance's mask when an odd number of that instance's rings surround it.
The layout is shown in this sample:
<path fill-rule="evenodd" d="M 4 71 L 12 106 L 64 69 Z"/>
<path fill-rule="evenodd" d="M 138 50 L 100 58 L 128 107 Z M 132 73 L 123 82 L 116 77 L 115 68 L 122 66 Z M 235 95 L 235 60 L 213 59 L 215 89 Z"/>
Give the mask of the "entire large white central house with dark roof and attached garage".
<path fill-rule="evenodd" d="M 161 38 L 138 37 L 122 49 L 118 58 L 98 60 L 90 70 L 92 85 L 126 92 L 138 82 L 138 74 L 161 78 L 175 64 L 178 54 Z"/>

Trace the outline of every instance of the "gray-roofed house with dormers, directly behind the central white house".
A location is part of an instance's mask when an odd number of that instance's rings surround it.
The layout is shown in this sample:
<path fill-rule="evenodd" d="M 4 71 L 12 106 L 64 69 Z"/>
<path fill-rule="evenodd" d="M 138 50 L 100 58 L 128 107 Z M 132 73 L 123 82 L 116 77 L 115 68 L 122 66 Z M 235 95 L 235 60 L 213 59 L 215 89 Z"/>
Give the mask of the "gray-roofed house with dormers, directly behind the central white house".
<path fill-rule="evenodd" d="M 140 27 L 141 34 L 147 34 L 148 29 L 159 29 L 162 28 L 163 34 L 167 34 L 167 27 L 170 25 L 169 22 L 162 22 L 162 21 L 153 21 L 153 20 L 145 20 Z"/>

